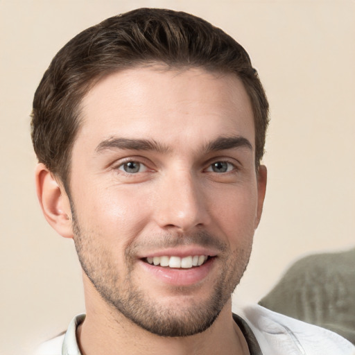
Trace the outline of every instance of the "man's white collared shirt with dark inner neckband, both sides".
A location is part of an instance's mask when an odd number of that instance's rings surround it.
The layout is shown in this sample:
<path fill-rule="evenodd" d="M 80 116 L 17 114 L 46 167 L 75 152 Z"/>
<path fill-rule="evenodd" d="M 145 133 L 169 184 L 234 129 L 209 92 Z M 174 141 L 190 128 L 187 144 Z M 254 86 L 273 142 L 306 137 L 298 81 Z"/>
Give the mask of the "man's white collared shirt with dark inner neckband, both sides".
<path fill-rule="evenodd" d="M 77 315 L 65 334 L 42 344 L 36 355 L 81 355 L 76 328 L 84 319 L 85 314 Z M 234 320 L 251 355 L 355 355 L 354 345 L 338 334 L 259 305 L 241 309 Z"/>

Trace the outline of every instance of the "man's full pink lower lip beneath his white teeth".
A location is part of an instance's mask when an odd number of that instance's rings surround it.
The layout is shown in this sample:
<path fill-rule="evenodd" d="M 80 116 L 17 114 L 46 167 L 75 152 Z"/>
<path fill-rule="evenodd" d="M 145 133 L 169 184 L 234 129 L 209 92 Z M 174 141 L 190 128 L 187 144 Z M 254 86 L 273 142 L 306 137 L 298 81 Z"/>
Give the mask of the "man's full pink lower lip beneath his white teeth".
<path fill-rule="evenodd" d="M 214 265 L 214 259 L 208 259 L 204 264 L 194 268 L 163 268 L 162 266 L 153 266 L 140 260 L 141 266 L 150 272 L 155 278 L 162 280 L 166 284 L 175 286 L 189 286 L 202 282 L 211 271 Z"/>

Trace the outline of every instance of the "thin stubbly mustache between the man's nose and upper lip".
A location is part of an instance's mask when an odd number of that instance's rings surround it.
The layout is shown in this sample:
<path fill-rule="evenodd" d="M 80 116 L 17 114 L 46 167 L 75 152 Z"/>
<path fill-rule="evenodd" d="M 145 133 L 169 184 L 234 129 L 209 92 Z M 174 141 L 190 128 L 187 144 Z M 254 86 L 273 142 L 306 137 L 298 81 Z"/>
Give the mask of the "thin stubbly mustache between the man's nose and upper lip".
<path fill-rule="evenodd" d="M 139 241 L 135 241 L 130 245 L 128 254 L 136 254 L 138 250 L 159 249 L 159 248 L 177 248 L 187 245 L 200 245 L 205 248 L 213 248 L 218 252 L 225 252 L 227 244 L 220 241 L 216 236 L 206 231 L 199 231 L 192 234 L 182 233 L 166 233 L 153 236 L 145 236 Z"/>

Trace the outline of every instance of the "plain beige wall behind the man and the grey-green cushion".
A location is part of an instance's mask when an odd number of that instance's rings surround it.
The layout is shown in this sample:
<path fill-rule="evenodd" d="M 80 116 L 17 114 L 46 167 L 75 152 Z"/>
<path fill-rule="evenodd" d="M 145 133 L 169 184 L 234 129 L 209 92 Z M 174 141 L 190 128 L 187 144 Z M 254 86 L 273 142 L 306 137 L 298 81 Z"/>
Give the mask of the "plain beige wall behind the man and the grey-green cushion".
<path fill-rule="evenodd" d="M 0 354 L 29 353 L 84 310 L 73 245 L 46 225 L 35 198 L 35 88 L 78 31 L 141 6 L 225 29 L 270 99 L 266 205 L 235 304 L 257 302 L 301 255 L 355 244 L 355 1 L 0 0 Z"/>

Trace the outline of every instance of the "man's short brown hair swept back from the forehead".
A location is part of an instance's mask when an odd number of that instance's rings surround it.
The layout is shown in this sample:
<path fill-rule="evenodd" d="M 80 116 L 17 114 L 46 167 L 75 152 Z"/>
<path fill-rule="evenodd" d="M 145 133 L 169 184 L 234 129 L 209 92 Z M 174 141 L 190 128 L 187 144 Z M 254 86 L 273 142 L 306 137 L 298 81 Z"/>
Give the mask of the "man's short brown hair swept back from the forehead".
<path fill-rule="evenodd" d="M 66 189 L 71 147 L 80 125 L 81 99 L 99 78 L 150 62 L 235 73 L 252 103 L 255 164 L 259 166 L 268 125 L 268 101 L 245 49 L 199 17 L 140 8 L 110 17 L 73 37 L 55 55 L 35 92 L 31 121 L 35 153 Z"/>

